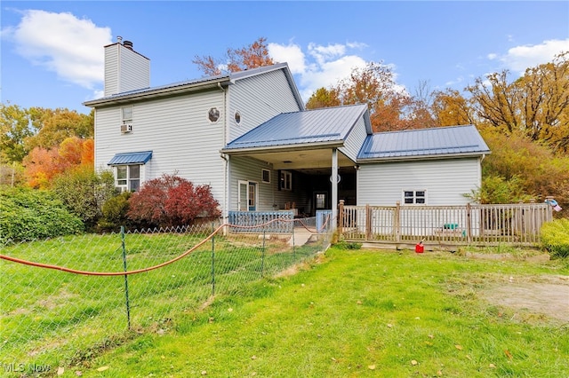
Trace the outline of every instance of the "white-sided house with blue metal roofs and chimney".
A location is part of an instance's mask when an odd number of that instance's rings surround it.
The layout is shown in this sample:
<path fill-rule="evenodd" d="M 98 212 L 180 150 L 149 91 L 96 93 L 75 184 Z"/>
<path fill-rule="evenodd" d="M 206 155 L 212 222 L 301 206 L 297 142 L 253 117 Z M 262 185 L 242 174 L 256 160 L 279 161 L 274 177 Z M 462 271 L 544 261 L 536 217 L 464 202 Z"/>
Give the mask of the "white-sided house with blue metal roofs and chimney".
<path fill-rule="evenodd" d="M 459 205 L 490 151 L 472 126 L 373 134 L 367 106 L 304 108 L 286 63 L 150 87 L 150 60 L 105 46 L 95 167 L 138 190 L 165 174 L 210 185 L 230 211 Z"/>

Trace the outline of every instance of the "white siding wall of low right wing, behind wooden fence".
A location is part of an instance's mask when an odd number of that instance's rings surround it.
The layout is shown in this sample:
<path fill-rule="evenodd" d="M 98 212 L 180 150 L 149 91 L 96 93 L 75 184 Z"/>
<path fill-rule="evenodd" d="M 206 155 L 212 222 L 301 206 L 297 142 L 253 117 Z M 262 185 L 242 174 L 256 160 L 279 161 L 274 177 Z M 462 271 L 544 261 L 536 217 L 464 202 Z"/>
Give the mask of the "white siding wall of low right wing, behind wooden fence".
<path fill-rule="evenodd" d="M 427 205 L 464 205 L 464 193 L 481 183 L 479 158 L 399 161 L 360 164 L 357 171 L 357 205 L 403 204 L 406 190 L 424 190 Z"/>

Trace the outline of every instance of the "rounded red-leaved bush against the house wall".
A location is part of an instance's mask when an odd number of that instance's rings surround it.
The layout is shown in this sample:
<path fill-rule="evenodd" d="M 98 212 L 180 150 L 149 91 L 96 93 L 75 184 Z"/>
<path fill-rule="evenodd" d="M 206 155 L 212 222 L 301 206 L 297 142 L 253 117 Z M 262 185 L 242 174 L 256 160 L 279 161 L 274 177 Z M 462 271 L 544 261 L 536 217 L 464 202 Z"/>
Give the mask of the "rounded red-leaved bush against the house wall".
<path fill-rule="evenodd" d="M 209 185 L 196 186 L 185 178 L 164 174 L 132 194 L 127 216 L 140 224 L 187 225 L 196 218 L 220 217 L 219 205 Z"/>

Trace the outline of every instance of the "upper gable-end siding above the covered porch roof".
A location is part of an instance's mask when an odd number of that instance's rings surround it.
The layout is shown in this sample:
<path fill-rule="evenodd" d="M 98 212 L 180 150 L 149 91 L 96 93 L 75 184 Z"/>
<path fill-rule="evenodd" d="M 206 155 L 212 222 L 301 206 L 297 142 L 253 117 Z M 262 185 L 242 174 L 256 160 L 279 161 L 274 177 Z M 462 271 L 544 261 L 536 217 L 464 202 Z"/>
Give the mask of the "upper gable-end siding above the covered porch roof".
<path fill-rule="evenodd" d="M 282 69 L 240 79 L 228 90 L 228 142 L 277 114 L 300 110 Z M 239 124 L 236 112 L 241 115 Z"/>

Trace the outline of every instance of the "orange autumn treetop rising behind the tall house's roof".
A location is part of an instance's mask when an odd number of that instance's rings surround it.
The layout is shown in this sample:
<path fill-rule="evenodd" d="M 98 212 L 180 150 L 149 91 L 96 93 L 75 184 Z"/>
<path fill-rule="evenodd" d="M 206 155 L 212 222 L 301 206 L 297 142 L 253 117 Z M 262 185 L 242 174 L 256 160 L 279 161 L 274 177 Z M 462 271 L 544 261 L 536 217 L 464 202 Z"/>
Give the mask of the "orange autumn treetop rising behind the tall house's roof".
<path fill-rule="evenodd" d="M 196 56 L 192 63 L 196 64 L 204 75 L 215 76 L 249 68 L 271 66 L 276 62 L 268 56 L 267 38 L 260 37 L 246 47 L 228 48 L 223 58 L 216 59 L 211 55 Z"/>

